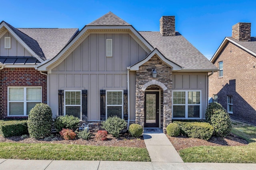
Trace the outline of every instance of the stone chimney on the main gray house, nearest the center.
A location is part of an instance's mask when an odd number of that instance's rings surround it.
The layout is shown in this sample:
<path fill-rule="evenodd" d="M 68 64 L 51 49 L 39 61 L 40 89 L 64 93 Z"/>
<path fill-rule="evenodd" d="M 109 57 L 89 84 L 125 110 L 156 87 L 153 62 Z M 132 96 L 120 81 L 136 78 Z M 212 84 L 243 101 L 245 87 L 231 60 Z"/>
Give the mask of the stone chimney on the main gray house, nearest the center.
<path fill-rule="evenodd" d="M 160 19 L 160 33 L 162 36 L 175 36 L 175 16 L 162 16 Z"/>

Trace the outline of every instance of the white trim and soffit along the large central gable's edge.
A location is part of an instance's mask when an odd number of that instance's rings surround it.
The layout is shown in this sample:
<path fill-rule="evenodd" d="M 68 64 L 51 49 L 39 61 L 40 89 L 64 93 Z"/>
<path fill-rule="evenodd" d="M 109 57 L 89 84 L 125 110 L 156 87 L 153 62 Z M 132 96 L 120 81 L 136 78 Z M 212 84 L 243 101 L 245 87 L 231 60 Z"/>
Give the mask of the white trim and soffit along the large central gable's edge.
<path fill-rule="evenodd" d="M 39 66 L 36 67 L 36 69 L 40 70 L 40 71 L 48 71 L 49 73 L 51 72 L 51 69 L 56 67 L 58 64 L 60 64 L 62 61 L 64 61 L 64 59 L 66 59 L 66 57 L 68 57 L 68 55 L 70 55 L 72 53 L 72 51 L 74 51 L 74 49 L 76 49 L 76 47 L 78 47 L 78 45 L 80 45 L 80 43 L 82 43 L 82 41 L 84 39 L 86 39 L 86 37 L 88 37 L 91 33 L 96 32 L 96 31 L 104 31 L 102 33 L 105 33 L 105 30 L 107 31 L 113 31 L 114 33 L 116 32 L 120 32 L 120 31 L 128 31 L 129 35 L 132 36 L 132 38 L 134 38 L 134 40 L 139 43 L 142 44 L 142 48 L 147 52 L 150 53 L 152 50 L 154 50 L 154 48 L 131 26 L 131 25 L 127 25 L 127 26 L 85 26 L 78 35 L 76 35 L 76 37 L 70 42 L 68 43 L 68 45 L 66 45 L 66 47 L 64 47 L 64 49 L 62 49 L 62 51 L 60 51 L 60 53 L 58 55 L 56 55 L 52 60 L 44 62 L 42 64 L 40 64 Z M 113 33 L 112 32 L 112 33 Z M 138 38 L 136 38 L 138 37 Z M 146 45 L 146 47 L 144 45 Z"/>

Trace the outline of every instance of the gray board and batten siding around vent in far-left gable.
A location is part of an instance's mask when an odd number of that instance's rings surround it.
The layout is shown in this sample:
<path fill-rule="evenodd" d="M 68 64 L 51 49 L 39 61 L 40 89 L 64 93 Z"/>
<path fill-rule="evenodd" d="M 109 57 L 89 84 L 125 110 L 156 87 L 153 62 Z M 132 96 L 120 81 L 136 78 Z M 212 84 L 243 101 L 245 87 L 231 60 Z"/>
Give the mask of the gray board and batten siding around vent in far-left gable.
<path fill-rule="evenodd" d="M 0 35 L 1 37 L 2 35 Z M 11 37 L 11 48 L 4 48 L 4 37 Z M 0 56 L 32 56 L 9 32 L 0 38 Z"/>

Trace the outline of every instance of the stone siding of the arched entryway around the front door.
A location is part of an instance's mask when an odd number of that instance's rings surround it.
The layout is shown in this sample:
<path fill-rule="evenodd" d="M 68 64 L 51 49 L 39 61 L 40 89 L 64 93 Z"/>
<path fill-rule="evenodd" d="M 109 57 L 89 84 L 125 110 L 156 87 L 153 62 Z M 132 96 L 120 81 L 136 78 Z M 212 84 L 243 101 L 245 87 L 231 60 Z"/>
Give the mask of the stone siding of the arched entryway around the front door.
<path fill-rule="evenodd" d="M 156 69 L 157 77 L 152 77 L 152 68 Z M 154 85 L 154 86 L 152 86 Z M 164 133 L 167 125 L 172 121 L 172 69 L 158 56 L 154 55 L 149 61 L 142 64 L 136 71 L 136 123 L 144 127 L 144 95 L 146 90 L 162 88 L 163 118 L 160 120 Z M 151 87 L 152 86 L 152 87 Z"/>

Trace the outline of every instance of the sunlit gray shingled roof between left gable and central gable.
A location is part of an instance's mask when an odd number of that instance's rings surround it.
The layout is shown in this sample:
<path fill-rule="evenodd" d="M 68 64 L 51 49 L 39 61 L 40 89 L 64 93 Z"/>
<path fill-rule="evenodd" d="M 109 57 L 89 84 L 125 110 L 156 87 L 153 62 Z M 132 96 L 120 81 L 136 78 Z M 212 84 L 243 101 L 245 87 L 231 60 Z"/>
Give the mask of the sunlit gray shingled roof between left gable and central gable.
<path fill-rule="evenodd" d="M 46 59 L 52 59 L 78 32 L 77 28 L 18 28 L 35 39 Z"/>

